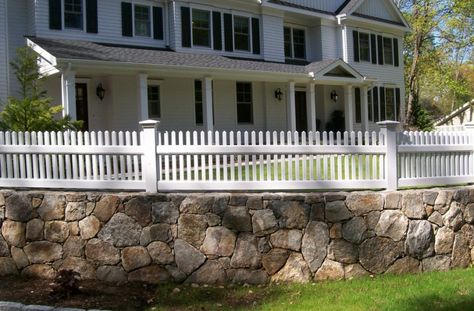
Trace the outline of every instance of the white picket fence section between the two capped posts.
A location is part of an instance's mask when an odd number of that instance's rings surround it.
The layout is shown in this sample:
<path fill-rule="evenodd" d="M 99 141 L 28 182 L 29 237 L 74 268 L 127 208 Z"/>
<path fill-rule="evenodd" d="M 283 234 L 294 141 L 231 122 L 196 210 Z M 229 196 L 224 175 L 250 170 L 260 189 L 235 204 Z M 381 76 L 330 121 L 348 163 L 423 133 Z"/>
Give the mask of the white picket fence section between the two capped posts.
<path fill-rule="evenodd" d="M 161 191 L 386 186 L 379 169 L 386 146 L 376 133 L 172 131 L 158 135 Z"/>

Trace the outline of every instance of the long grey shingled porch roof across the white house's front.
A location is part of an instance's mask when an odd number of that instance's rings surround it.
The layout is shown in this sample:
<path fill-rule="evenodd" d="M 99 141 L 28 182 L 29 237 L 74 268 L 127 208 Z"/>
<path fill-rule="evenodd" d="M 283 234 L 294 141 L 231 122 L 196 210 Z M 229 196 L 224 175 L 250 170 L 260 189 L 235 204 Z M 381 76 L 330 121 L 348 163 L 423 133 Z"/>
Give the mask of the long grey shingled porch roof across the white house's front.
<path fill-rule="evenodd" d="M 80 40 L 28 37 L 28 44 L 48 62 L 58 68 L 74 62 L 101 62 L 104 64 L 147 65 L 175 69 L 211 69 L 228 72 L 272 73 L 292 77 L 318 76 L 335 64 L 343 65 L 358 77 L 363 77 L 341 59 L 288 64 L 255 59 L 242 59 L 221 55 L 175 52 L 169 49 L 113 45 Z"/>

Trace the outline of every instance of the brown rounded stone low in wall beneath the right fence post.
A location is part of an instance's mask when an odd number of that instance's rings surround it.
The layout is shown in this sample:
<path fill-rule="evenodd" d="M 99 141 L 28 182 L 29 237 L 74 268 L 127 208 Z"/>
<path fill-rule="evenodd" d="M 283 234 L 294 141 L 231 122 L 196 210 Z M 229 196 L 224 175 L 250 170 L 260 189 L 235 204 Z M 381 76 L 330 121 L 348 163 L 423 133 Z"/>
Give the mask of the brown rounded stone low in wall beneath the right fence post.
<path fill-rule="evenodd" d="M 403 242 L 375 237 L 362 242 L 359 247 L 359 260 L 371 273 L 381 274 L 403 254 Z"/>

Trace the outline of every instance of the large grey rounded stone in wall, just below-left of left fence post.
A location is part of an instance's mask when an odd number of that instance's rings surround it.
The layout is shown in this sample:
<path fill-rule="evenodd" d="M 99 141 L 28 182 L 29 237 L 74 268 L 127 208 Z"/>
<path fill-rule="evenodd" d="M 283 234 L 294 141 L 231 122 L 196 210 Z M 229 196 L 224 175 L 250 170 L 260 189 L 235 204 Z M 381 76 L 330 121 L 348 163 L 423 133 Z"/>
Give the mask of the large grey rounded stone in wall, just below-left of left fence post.
<path fill-rule="evenodd" d="M 79 226 L 80 224 L 81 223 L 79 223 Z M 112 216 L 110 221 L 100 230 L 98 237 L 116 247 L 138 245 L 141 230 L 142 228 L 135 220 L 125 214 L 117 213 Z"/>

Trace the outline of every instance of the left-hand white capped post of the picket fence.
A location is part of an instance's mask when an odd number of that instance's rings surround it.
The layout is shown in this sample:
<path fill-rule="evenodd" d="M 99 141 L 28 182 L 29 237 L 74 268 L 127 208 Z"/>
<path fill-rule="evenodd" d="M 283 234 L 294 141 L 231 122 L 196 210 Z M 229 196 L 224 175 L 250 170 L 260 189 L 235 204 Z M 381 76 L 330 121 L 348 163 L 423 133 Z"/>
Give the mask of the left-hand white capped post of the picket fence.
<path fill-rule="evenodd" d="M 140 142 L 143 148 L 142 178 L 145 182 L 146 192 L 158 191 L 158 165 L 156 156 L 156 145 L 158 144 L 157 129 L 160 122 L 156 120 L 145 120 L 140 122 L 143 129 L 143 140 Z"/>

